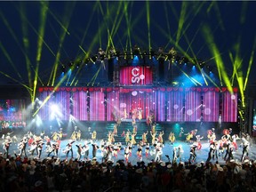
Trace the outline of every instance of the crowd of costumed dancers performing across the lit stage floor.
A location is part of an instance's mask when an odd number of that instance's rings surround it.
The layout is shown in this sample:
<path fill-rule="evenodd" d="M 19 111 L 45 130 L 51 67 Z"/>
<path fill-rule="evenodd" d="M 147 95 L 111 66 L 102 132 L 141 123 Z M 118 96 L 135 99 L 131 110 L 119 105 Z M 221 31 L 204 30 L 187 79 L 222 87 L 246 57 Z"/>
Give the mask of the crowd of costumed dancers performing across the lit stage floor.
<path fill-rule="evenodd" d="M 45 135 L 41 132 L 39 135 L 33 134 L 32 132 L 27 132 L 20 140 L 17 139 L 15 135 L 12 136 L 12 132 L 3 135 L 4 140 L 4 155 L 9 155 L 9 148 L 12 144 L 17 145 L 17 153 L 14 152 L 16 156 L 36 156 L 41 158 L 42 152 L 46 153 L 46 156 L 60 156 L 60 153 L 65 154 L 66 158 L 76 158 L 77 160 L 87 160 L 89 159 L 89 150 L 92 148 L 92 158 L 96 158 L 97 151 L 101 152 L 101 161 L 113 161 L 117 158 L 120 153 L 124 154 L 124 159 L 129 162 L 129 158 L 132 156 L 133 148 L 136 148 L 136 155 L 138 161 L 142 161 L 143 158 L 154 159 L 156 162 L 162 161 L 163 148 L 164 148 L 164 131 L 157 132 L 156 124 L 152 124 L 147 132 L 143 132 L 141 135 L 141 140 L 136 140 L 136 135 L 138 127 L 133 124 L 132 131 L 127 130 L 122 132 L 121 136 L 124 137 L 123 143 L 116 142 L 115 137 L 118 133 L 119 124 L 115 124 L 113 131 L 108 132 L 106 139 L 98 140 L 97 132 L 91 132 L 91 138 L 89 140 L 82 140 L 82 132 L 77 127 L 75 127 L 74 132 L 72 132 L 70 138 L 68 138 L 68 144 L 63 148 L 60 148 L 60 142 L 64 139 L 67 140 L 67 135 L 62 132 L 60 128 L 59 132 L 52 132 L 51 136 Z M 88 129 L 90 130 L 90 128 Z M 150 134 L 151 140 L 148 140 L 148 135 Z M 188 161 L 193 163 L 196 161 L 196 151 L 202 149 L 201 140 L 204 136 L 197 134 L 197 130 L 192 130 L 190 132 L 184 132 L 181 127 L 179 134 L 176 132 L 169 132 L 168 142 L 172 145 L 169 156 L 165 156 L 172 163 L 177 161 L 183 161 L 184 150 L 182 145 L 175 145 L 176 137 L 186 138 L 184 141 L 187 142 L 185 145 L 189 145 L 189 159 Z M 249 134 L 241 135 L 241 138 L 237 134 L 232 133 L 232 129 L 224 129 L 223 135 L 220 139 L 217 139 L 215 134 L 215 129 L 207 131 L 207 142 L 209 143 L 209 153 L 206 162 L 212 160 L 223 159 L 226 162 L 234 161 L 233 154 L 238 150 L 238 148 L 243 148 L 242 156 L 240 161 L 244 162 L 249 158 L 249 148 L 252 144 L 252 140 Z M 241 140 L 239 146 L 237 146 L 236 140 Z M 166 142 L 166 141 L 165 141 Z M 73 149 L 76 149 L 75 152 Z M 123 151 L 123 152 L 121 152 Z M 76 155 L 76 156 L 75 156 Z"/>

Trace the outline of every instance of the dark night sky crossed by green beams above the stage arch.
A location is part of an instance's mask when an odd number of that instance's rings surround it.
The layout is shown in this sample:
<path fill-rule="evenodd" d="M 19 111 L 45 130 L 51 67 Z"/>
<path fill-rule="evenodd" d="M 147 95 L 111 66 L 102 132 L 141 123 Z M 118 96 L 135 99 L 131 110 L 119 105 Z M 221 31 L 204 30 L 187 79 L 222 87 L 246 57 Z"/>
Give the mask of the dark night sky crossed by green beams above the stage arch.
<path fill-rule="evenodd" d="M 43 7 L 48 7 L 44 17 Z M 99 47 L 107 48 L 108 34 L 112 34 L 112 42 L 121 52 L 134 44 L 141 50 L 148 50 L 149 44 L 155 50 L 176 47 L 216 68 L 214 58 L 220 56 L 228 78 L 238 58 L 242 62 L 237 71 L 245 79 L 252 57 L 249 79 L 254 84 L 255 9 L 256 2 L 236 1 L 0 2 L 0 81 L 28 84 L 29 78 L 34 80 L 36 63 L 39 78 L 47 81 L 59 51 L 59 62 L 83 58 L 79 45 L 94 54 Z M 40 39 L 44 43 L 36 62 Z"/>

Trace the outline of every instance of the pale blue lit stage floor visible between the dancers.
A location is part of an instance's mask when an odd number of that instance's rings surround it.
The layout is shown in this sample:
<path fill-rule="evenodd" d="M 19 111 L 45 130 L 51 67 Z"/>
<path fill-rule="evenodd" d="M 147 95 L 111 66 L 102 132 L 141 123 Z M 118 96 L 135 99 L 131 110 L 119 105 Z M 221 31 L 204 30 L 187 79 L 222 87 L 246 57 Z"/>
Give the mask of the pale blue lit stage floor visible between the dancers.
<path fill-rule="evenodd" d="M 59 152 L 59 156 L 58 156 L 60 158 L 60 160 L 66 159 L 66 154 L 63 153 L 62 151 L 68 144 L 68 141 L 70 141 L 70 140 L 61 140 L 61 142 L 60 142 L 60 152 Z M 1 139 L 1 143 L 3 143 L 3 142 L 4 142 L 4 140 Z M 100 146 L 100 140 L 97 140 L 96 142 Z M 76 153 L 76 151 L 77 151 L 76 145 L 79 145 L 80 143 L 82 145 L 84 145 L 84 140 L 76 141 L 75 143 L 73 143 L 73 153 L 74 153 L 73 158 L 74 159 L 76 158 L 76 154 L 77 154 Z M 207 140 L 202 140 L 201 143 L 202 143 L 202 148 L 200 150 L 196 150 L 197 156 L 196 156 L 195 164 L 202 162 L 202 161 L 205 162 L 208 157 L 209 143 Z M 241 147 L 239 148 L 240 143 L 241 143 L 241 140 L 237 140 L 238 149 L 236 151 L 234 151 L 234 153 L 233 153 L 234 159 L 237 162 L 240 162 L 240 159 L 242 156 L 242 150 L 243 150 L 243 148 L 241 148 Z M 178 147 L 179 145 L 182 145 L 182 148 L 184 149 L 182 162 L 188 162 L 190 145 L 188 143 L 186 143 L 185 141 L 181 141 L 181 140 L 175 141 L 173 145 L 171 145 L 171 143 L 168 140 L 164 142 L 162 161 L 168 162 L 168 158 L 165 155 L 170 156 L 170 159 L 172 161 L 172 149 L 173 149 L 173 147 Z M 0 151 L 3 152 L 3 154 L 4 154 L 3 145 L 2 145 L 2 148 Z M 17 154 L 20 153 L 20 150 L 18 149 L 18 143 L 12 143 L 12 146 L 10 147 L 9 154 L 11 156 L 14 156 L 14 152 L 16 152 Z M 131 162 L 132 164 L 137 164 L 137 162 L 140 161 L 140 159 L 136 155 L 136 152 L 137 152 L 137 146 L 134 146 L 134 148 L 132 148 L 132 156 L 129 157 L 129 162 Z M 27 155 L 28 155 L 28 158 L 36 157 L 36 155 L 34 155 L 34 156 L 29 155 L 28 152 L 27 152 Z M 53 155 L 53 153 L 52 153 L 52 155 Z M 46 157 L 47 157 L 47 153 L 45 152 L 45 147 L 44 147 L 41 159 L 44 159 Z M 70 158 L 70 157 L 71 157 L 71 155 L 69 153 L 68 158 Z M 92 145 L 90 145 L 89 158 L 92 159 Z M 249 149 L 249 158 L 256 159 L 256 144 L 254 141 L 252 141 L 251 147 Z M 120 159 L 124 159 L 124 149 L 122 149 L 119 152 L 117 157 L 113 157 L 112 159 L 114 160 L 114 164 L 116 164 L 116 161 L 118 161 Z M 145 156 L 145 147 L 144 147 L 142 149 L 142 161 L 144 161 L 145 164 L 148 164 L 154 159 L 155 159 L 155 156 L 150 156 L 150 155 L 148 155 L 148 157 Z M 81 158 L 81 160 L 83 160 L 83 158 Z M 97 161 L 99 161 L 101 163 L 101 150 L 100 149 L 98 149 L 98 151 L 97 151 Z M 216 161 L 216 159 L 212 160 L 212 162 L 215 162 L 215 161 Z M 221 157 L 219 157 L 218 161 L 220 164 L 225 164 L 225 161 L 223 159 L 221 159 Z M 179 160 L 178 160 L 178 163 L 179 163 Z"/>

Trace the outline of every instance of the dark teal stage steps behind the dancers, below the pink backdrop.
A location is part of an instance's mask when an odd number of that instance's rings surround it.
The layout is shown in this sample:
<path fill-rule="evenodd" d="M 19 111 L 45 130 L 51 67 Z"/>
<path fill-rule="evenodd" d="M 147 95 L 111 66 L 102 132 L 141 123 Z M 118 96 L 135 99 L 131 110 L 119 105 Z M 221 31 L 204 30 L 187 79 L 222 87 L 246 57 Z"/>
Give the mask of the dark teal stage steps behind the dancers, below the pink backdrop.
<path fill-rule="evenodd" d="M 115 124 L 116 123 L 109 123 L 107 125 L 107 132 L 109 132 L 109 131 L 113 132 Z M 147 132 L 147 131 L 148 131 L 147 139 L 148 139 L 148 142 L 151 143 L 151 140 L 152 140 L 152 137 L 150 135 L 151 127 L 148 126 L 148 124 L 146 122 L 137 121 L 136 124 L 137 124 L 137 134 L 135 136 L 135 140 L 137 141 L 137 143 L 140 140 L 142 140 L 142 133 Z M 122 122 L 117 128 L 117 136 L 115 137 L 115 142 L 122 142 L 124 144 L 125 138 L 121 137 L 121 135 L 123 132 L 127 132 L 128 130 L 130 130 L 130 132 L 132 132 L 132 130 L 133 130 L 132 122 Z M 156 124 L 156 131 L 160 132 L 162 130 L 163 130 L 162 125 Z M 108 138 L 106 138 L 106 140 L 108 140 Z"/>

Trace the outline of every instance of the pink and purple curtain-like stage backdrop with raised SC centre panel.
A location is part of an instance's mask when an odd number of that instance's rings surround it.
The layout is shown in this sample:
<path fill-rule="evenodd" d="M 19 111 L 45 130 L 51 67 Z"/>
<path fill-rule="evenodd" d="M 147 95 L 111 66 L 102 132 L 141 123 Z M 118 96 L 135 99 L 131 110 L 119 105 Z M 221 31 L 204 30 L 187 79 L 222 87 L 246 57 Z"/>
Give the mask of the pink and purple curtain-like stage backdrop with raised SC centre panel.
<path fill-rule="evenodd" d="M 153 84 L 150 67 L 120 68 L 119 84 L 111 87 L 40 87 L 39 100 L 51 95 L 39 115 L 49 120 L 51 106 L 78 121 L 116 121 L 117 118 L 147 119 L 156 122 L 231 122 L 237 121 L 237 89 L 173 87 Z"/>

